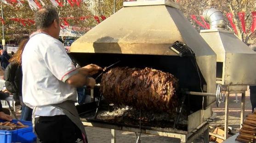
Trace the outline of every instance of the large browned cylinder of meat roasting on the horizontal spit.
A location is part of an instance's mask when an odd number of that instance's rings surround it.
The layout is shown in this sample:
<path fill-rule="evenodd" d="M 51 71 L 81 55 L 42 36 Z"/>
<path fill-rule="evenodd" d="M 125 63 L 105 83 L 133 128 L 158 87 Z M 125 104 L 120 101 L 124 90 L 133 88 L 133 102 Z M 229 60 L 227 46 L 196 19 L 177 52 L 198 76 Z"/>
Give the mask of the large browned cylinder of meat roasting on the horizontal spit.
<path fill-rule="evenodd" d="M 109 103 L 173 111 L 178 79 L 160 70 L 117 67 L 102 75 L 101 93 Z"/>

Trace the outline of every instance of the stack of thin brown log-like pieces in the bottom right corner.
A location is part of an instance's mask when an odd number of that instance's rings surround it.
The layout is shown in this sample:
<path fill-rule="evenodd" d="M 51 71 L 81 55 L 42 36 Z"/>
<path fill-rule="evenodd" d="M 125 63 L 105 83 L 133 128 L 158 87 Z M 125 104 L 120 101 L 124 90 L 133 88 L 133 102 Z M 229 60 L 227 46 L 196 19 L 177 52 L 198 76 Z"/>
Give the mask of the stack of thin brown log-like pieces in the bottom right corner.
<path fill-rule="evenodd" d="M 246 116 L 236 140 L 242 143 L 256 142 L 256 111 Z"/>

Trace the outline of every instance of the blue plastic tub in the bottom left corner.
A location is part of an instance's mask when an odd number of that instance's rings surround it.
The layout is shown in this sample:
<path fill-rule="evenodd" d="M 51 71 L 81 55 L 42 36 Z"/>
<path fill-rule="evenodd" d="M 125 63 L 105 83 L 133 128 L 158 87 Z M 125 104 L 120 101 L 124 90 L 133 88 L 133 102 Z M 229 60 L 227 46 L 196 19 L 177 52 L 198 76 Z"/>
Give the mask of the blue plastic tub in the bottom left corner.
<path fill-rule="evenodd" d="M 12 120 L 11 122 L 17 123 L 19 120 Z M 0 120 L 0 122 L 5 122 Z M 33 133 L 32 122 L 19 121 L 29 127 L 21 128 L 12 131 L 0 130 L 0 143 L 34 143 L 36 136 Z"/>

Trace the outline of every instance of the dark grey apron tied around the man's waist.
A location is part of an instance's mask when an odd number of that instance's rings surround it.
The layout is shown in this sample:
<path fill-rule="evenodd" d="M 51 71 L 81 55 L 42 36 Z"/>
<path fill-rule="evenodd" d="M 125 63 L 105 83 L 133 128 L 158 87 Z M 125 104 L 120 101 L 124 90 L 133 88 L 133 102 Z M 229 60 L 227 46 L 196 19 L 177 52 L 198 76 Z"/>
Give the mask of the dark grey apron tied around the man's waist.
<path fill-rule="evenodd" d="M 85 132 L 85 127 L 80 120 L 79 114 L 74 105 L 74 101 L 64 101 L 62 103 L 54 104 L 51 106 L 55 106 L 56 108 L 62 110 L 63 113 L 80 129 L 84 143 L 88 143 L 86 132 Z M 35 120 L 34 120 L 34 118 L 35 118 L 34 111 L 35 110 L 36 110 L 36 107 L 34 107 L 33 115 L 32 115 L 33 131 L 34 131 L 34 125 L 35 125 Z M 36 134 L 35 131 L 34 131 L 34 133 Z"/>

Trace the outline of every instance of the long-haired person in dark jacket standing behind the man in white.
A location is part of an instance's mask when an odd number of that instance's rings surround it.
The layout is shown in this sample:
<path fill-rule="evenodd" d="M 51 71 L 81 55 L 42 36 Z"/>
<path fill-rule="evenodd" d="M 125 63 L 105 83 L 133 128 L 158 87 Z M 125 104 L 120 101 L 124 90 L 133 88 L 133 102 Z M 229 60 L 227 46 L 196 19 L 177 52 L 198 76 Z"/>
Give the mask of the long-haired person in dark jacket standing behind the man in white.
<path fill-rule="evenodd" d="M 5 69 L 4 79 L 6 89 L 13 94 L 14 100 L 20 100 L 22 105 L 21 120 L 32 121 L 32 109 L 23 104 L 22 98 L 22 53 L 28 38 L 23 39 L 14 56 L 9 60 L 10 64 Z"/>

